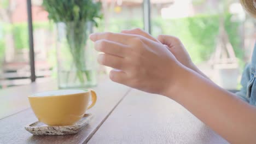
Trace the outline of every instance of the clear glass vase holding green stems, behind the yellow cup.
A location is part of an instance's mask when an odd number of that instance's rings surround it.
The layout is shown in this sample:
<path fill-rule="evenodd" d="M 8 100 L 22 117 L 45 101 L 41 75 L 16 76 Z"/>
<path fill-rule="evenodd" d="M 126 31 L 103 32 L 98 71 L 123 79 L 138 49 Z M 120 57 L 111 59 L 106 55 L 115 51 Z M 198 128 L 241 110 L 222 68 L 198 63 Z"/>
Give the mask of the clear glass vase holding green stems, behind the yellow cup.
<path fill-rule="evenodd" d="M 59 88 L 96 86 L 96 53 L 88 40 L 92 22 L 60 22 L 56 26 Z"/>

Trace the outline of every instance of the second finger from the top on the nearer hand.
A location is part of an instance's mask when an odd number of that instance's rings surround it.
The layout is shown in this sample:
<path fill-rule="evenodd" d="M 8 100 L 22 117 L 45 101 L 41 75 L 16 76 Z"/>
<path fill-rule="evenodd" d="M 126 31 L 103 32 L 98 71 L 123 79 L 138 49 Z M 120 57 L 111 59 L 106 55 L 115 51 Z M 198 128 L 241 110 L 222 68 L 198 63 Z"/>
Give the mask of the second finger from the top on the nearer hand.
<path fill-rule="evenodd" d="M 95 41 L 95 49 L 118 57 L 125 57 L 129 51 L 126 45 L 104 39 Z"/>

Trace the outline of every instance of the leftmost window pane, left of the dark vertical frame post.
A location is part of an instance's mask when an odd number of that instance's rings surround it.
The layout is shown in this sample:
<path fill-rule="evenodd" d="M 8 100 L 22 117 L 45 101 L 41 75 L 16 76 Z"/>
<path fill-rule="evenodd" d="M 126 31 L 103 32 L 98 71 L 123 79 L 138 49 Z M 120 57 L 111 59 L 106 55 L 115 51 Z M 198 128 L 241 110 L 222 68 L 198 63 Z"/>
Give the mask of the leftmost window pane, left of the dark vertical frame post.
<path fill-rule="evenodd" d="M 30 83 L 25 0 L 0 0 L 0 89 Z"/>

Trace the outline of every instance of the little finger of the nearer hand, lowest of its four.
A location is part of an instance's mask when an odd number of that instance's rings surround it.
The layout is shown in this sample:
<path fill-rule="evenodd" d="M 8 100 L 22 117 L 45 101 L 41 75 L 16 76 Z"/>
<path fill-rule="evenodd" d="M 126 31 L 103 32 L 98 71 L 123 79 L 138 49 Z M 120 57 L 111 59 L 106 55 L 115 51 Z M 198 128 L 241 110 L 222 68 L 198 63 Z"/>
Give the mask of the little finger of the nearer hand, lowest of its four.
<path fill-rule="evenodd" d="M 113 69 L 109 73 L 109 77 L 112 81 L 118 83 L 125 83 L 127 81 L 127 74 L 124 71 Z"/>

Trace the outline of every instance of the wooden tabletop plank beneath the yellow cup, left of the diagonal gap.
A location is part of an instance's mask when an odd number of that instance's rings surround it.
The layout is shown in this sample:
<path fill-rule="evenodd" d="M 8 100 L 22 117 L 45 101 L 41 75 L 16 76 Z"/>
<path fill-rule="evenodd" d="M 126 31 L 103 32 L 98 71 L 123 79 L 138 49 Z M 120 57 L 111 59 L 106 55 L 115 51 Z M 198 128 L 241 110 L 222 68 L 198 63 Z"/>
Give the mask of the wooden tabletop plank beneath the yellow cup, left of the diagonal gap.
<path fill-rule="evenodd" d="M 51 85 L 49 85 L 51 86 Z M 35 86 L 36 88 L 39 88 Z M 33 88 L 20 89 L 20 94 L 15 99 L 9 100 L 8 104 L 19 103 L 18 97 L 27 97 Z M 109 80 L 100 82 L 98 87 L 94 88 L 98 99 L 97 103 L 88 113 L 92 113 L 93 118 L 89 124 L 78 134 L 65 136 L 33 136 L 25 130 L 25 125 L 37 121 L 31 109 L 23 110 L 15 115 L 0 119 L 0 143 L 86 143 L 101 126 L 101 124 L 112 112 L 114 107 L 126 95 L 130 88 L 119 85 Z M 41 87 L 40 87 L 41 90 Z M 34 90 L 33 90 L 34 91 Z M 16 92 L 18 93 L 18 92 Z M 1 93 L 2 94 L 2 93 Z M 26 96 L 24 96 L 26 95 Z M 2 95 L 1 95 L 2 96 Z M 5 95 L 6 97 L 8 95 Z M 15 95 L 14 95 L 15 96 Z M 13 96 L 13 97 L 14 97 Z M 18 99 L 16 99 L 18 98 Z M 1 99 L 2 100 L 2 99 Z M 16 102 L 15 102 L 16 101 Z M 2 104 L 4 102 L 1 101 Z M 27 103 L 22 101 L 22 103 Z"/>

